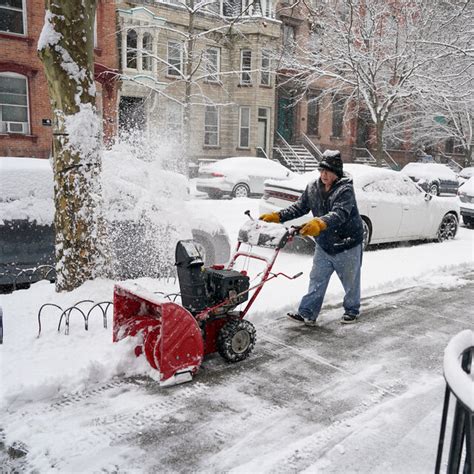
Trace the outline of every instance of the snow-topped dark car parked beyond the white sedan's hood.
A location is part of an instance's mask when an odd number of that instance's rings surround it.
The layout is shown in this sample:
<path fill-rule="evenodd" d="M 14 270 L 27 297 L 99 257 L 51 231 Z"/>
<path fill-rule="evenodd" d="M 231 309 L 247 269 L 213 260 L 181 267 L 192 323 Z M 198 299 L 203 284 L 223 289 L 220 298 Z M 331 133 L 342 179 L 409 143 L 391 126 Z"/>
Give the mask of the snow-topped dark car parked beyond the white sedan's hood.
<path fill-rule="evenodd" d="M 456 173 L 441 163 L 408 163 L 402 168 L 401 173 L 409 176 L 433 196 L 456 194 L 458 191 Z"/>

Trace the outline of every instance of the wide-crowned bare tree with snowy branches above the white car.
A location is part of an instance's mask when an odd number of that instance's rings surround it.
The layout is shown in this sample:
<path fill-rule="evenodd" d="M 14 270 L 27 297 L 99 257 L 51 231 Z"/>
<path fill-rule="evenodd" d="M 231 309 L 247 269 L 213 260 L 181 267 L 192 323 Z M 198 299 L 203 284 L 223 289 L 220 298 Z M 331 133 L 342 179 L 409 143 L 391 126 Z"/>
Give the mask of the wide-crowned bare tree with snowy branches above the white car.
<path fill-rule="evenodd" d="M 302 91 L 316 84 L 322 96 L 344 97 L 348 110 L 356 104 L 353 111 L 369 113 L 380 164 L 394 108 L 415 100 L 433 64 L 472 57 L 472 5 L 470 0 L 330 3 L 308 7 L 312 33 L 286 57 L 286 67 L 295 71 L 292 80 Z"/>

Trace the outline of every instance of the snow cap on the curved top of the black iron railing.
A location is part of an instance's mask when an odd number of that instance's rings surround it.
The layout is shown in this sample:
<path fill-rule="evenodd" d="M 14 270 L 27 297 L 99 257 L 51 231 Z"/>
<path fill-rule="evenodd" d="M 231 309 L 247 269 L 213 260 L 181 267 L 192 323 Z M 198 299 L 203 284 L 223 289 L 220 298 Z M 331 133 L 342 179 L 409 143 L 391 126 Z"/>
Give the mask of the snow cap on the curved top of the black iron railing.
<path fill-rule="evenodd" d="M 454 336 L 444 351 L 444 377 L 452 392 L 474 411 L 474 380 L 461 367 L 462 353 L 474 347 L 474 331 L 466 329 Z"/>

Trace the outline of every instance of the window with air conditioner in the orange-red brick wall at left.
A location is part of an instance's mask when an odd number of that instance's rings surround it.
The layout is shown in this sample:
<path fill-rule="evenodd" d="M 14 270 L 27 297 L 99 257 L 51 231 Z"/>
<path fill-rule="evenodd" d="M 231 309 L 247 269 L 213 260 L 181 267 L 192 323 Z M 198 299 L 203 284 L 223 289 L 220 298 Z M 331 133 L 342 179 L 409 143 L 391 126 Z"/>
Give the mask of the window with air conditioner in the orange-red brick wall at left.
<path fill-rule="evenodd" d="M 29 133 L 28 81 L 16 73 L 0 73 L 0 126 L 2 133 Z"/>

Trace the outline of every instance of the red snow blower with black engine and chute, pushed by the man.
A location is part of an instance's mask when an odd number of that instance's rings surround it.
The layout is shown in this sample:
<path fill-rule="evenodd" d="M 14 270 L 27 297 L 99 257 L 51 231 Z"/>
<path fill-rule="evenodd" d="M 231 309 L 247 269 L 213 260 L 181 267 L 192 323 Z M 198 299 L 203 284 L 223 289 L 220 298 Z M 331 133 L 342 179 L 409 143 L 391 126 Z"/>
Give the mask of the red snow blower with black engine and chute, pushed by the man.
<path fill-rule="evenodd" d="M 248 211 L 246 214 L 250 217 Z M 191 380 L 207 354 L 218 352 L 229 362 L 246 359 L 255 345 L 256 333 L 244 317 L 263 285 L 280 275 L 292 280 L 302 274 L 271 273 L 278 253 L 297 232 L 294 227 L 247 221 L 239 231 L 237 248 L 227 268 L 204 267 L 194 241 L 179 241 L 176 267 L 181 305 L 160 301 L 137 287 L 115 285 L 114 342 L 136 336 L 135 354 L 144 354 L 159 370 L 161 385 Z M 267 247 L 274 252 L 267 258 L 254 253 L 253 247 Z M 265 269 L 256 275 L 256 284 L 250 286 L 246 271 L 234 269 L 239 258 L 264 262 Z M 244 309 L 236 309 L 245 302 Z"/>

